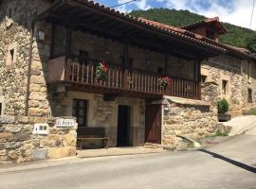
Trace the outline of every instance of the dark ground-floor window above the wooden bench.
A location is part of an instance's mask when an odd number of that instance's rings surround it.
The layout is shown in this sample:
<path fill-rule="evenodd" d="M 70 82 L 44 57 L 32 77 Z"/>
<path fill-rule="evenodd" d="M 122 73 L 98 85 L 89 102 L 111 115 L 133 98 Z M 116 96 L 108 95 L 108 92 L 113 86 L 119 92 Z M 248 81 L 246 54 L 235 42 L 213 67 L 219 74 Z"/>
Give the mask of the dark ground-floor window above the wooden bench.
<path fill-rule="evenodd" d="M 87 126 L 87 100 L 73 99 L 73 116 L 77 118 L 79 127 Z"/>

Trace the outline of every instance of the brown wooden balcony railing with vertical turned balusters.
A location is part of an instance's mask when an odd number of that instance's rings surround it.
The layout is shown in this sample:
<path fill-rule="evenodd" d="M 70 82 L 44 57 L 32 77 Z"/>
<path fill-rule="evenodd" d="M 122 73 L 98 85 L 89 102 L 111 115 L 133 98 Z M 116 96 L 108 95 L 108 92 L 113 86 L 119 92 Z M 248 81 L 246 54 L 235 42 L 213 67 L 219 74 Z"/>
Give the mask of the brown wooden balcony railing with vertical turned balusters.
<path fill-rule="evenodd" d="M 87 84 L 103 88 L 125 90 L 146 94 L 162 94 L 200 99 L 200 83 L 184 78 L 171 77 L 170 84 L 160 87 L 158 79 L 162 76 L 137 68 L 127 68 L 117 64 L 108 65 L 104 81 L 96 77 L 99 61 L 86 60 L 78 63 L 68 60 L 64 69 L 64 80 L 72 83 Z"/>

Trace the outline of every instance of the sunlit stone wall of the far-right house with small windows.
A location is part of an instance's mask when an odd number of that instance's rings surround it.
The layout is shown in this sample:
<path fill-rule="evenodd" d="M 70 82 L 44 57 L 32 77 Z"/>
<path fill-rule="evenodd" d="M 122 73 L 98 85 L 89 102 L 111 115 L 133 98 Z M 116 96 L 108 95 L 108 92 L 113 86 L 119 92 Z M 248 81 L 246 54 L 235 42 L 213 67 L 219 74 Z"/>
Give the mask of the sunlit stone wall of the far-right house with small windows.
<path fill-rule="evenodd" d="M 255 63 L 251 62 L 250 82 L 247 80 L 247 63 L 230 56 L 212 58 L 202 63 L 201 73 L 206 76 L 206 83 L 202 84 L 202 98 L 216 106 L 216 100 L 226 98 L 229 101 L 229 113 L 233 116 L 241 115 L 249 108 L 255 107 L 256 75 Z M 222 81 L 228 81 L 227 94 L 222 92 Z M 252 89 L 252 103 L 248 103 L 248 88 Z"/>

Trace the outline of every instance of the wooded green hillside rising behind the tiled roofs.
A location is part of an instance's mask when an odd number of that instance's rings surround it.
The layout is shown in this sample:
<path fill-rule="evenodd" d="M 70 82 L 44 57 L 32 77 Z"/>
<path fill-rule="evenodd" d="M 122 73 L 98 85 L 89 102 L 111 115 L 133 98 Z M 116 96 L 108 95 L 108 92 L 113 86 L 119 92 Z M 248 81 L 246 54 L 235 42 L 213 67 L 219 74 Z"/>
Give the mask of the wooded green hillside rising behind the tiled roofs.
<path fill-rule="evenodd" d="M 130 14 L 170 26 L 186 26 L 206 19 L 205 16 L 192 13 L 189 10 L 175 9 L 134 10 Z M 223 25 L 229 30 L 229 33 L 221 36 L 221 43 L 248 48 L 256 53 L 255 31 L 241 26 L 230 25 L 229 23 L 223 23 Z"/>

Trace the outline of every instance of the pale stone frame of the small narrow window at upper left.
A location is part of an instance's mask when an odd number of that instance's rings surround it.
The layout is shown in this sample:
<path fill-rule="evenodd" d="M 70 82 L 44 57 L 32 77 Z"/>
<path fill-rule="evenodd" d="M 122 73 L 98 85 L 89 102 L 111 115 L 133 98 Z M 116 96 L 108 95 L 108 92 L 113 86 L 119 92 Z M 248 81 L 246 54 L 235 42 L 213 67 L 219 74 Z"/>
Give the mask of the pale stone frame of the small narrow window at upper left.
<path fill-rule="evenodd" d="M 6 67 L 12 69 L 17 60 L 17 43 L 10 43 L 7 53 Z"/>

